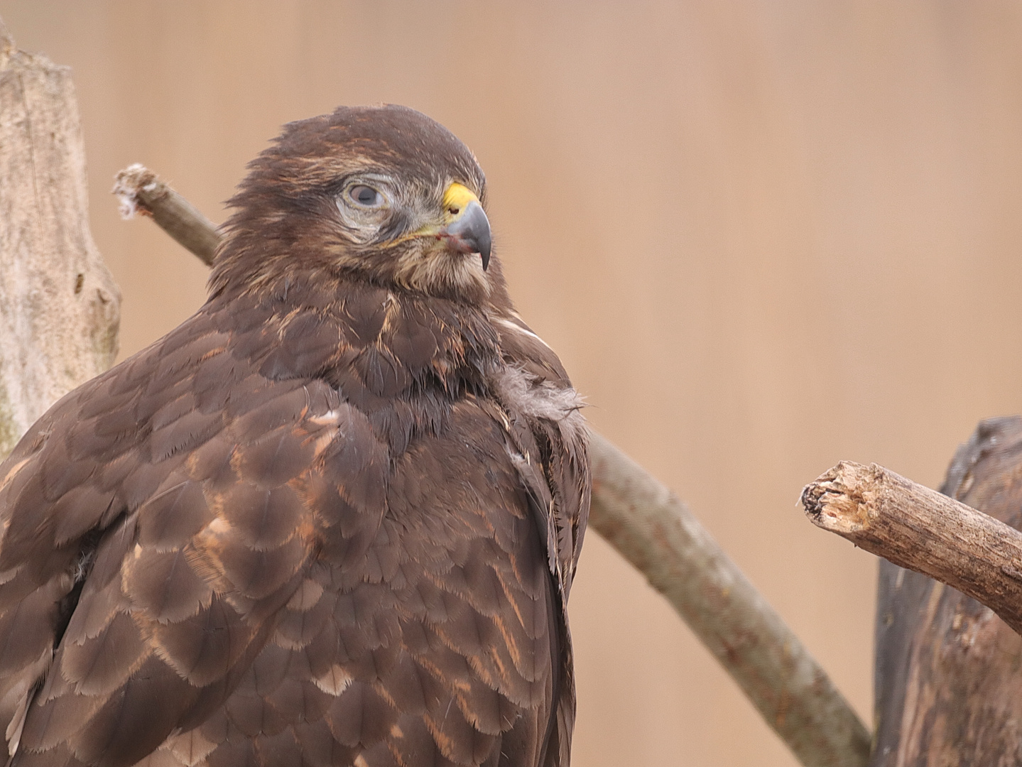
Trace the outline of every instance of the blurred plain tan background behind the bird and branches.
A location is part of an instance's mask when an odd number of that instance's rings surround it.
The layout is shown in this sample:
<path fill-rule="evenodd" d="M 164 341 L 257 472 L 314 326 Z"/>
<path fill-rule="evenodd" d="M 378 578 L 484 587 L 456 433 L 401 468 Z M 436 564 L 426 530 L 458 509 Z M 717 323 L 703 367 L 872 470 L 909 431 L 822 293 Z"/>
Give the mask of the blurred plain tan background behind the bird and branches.
<path fill-rule="evenodd" d="M 278 127 L 392 101 L 479 157 L 522 315 L 870 720 L 876 563 L 795 502 L 839 459 L 935 486 L 1022 411 L 1022 5 L 0 0 L 75 70 L 122 353 L 206 270 L 121 222 L 141 161 L 210 218 Z M 2 183 L 2 180 L 0 180 Z M 595 535 L 574 764 L 793 765 Z"/>

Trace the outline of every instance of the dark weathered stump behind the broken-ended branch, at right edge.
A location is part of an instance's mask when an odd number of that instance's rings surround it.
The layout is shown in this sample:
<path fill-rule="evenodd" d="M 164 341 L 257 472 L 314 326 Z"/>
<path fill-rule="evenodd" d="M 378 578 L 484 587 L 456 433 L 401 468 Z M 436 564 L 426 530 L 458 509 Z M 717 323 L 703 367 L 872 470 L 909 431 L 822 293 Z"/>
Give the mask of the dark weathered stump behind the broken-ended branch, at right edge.
<path fill-rule="evenodd" d="M 941 491 L 1022 527 L 1022 418 L 982 422 Z M 989 608 L 880 563 L 871 767 L 1022 764 L 1022 636 Z"/>

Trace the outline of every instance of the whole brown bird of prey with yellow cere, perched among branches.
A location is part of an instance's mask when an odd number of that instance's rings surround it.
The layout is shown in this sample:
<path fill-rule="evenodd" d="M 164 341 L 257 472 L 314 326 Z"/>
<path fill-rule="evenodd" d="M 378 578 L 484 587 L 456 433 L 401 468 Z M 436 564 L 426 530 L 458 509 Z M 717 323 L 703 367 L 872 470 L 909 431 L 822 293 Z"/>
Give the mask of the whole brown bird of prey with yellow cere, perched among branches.
<path fill-rule="evenodd" d="M 587 432 L 408 108 L 294 123 L 210 297 L 0 467 L 13 767 L 567 765 Z"/>

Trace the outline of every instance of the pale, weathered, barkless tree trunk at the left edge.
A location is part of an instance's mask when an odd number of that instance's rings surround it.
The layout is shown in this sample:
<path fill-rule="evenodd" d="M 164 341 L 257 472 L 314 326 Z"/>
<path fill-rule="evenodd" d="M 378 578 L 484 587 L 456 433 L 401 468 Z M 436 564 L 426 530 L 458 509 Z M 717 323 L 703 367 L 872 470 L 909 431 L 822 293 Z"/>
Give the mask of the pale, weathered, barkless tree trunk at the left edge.
<path fill-rule="evenodd" d="M 121 294 L 89 233 L 71 71 L 0 21 L 0 457 L 50 404 L 106 370 Z"/>

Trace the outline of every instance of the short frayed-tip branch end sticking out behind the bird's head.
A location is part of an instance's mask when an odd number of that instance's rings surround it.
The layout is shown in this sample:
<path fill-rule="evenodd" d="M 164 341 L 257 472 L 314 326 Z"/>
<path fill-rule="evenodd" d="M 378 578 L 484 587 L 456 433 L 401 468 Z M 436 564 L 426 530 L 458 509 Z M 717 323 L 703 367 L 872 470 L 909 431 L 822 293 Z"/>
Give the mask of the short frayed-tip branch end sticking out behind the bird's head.
<path fill-rule="evenodd" d="M 129 165 L 117 175 L 113 194 L 121 200 L 123 218 L 131 219 L 136 212 L 151 215 L 186 250 L 213 266 L 220 244 L 217 227 L 152 171 L 138 162 Z"/>

